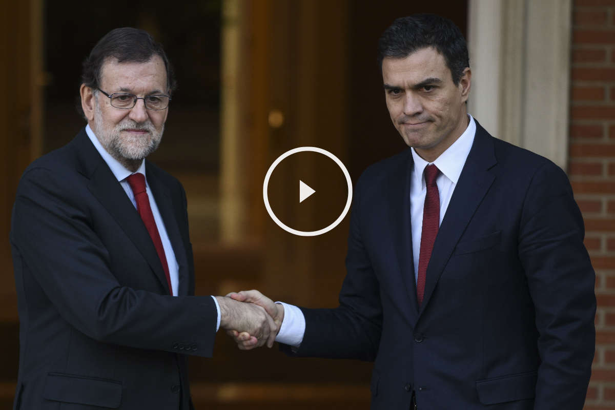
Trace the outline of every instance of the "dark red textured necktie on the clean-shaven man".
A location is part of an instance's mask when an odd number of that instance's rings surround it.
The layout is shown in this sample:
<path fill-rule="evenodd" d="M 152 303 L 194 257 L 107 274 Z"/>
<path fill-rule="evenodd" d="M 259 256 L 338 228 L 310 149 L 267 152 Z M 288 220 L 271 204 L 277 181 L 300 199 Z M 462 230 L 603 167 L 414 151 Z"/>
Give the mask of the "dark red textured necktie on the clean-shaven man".
<path fill-rule="evenodd" d="M 425 195 L 425 205 L 423 207 L 419 272 L 416 280 L 416 296 L 419 299 L 419 306 L 423 303 L 427 265 L 429 264 L 429 258 L 431 258 L 431 251 L 434 249 L 435 235 L 438 234 L 438 227 L 440 227 L 440 193 L 438 192 L 438 185 L 435 183 L 438 172 L 438 168 L 433 164 L 425 167 L 427 194 Z"/>

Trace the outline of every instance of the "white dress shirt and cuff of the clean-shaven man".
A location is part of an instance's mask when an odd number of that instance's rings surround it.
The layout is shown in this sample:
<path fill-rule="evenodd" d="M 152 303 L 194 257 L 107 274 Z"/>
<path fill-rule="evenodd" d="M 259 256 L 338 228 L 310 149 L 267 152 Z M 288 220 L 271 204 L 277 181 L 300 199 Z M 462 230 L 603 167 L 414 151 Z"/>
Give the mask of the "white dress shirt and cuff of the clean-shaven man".
<path fill-rule="evenodd" d="M 459 180 L 459 175 L 461 175 L 461 170 L 466 164 L 467 156 L 472 148 L 472 143 L 474 143 L 476 123 L 470 114 L 467 114 L 467 116 L 469 124 L 466 130 L 434 162 L 427 162 L 416 154 L 414 148 L 411 148 L 412 157 L 415 162 L 415 166 L 410 173 L 410 214 L 415 281 L 418 279 L 421 231 L 423 229 L 423 205 L 425 203 L 425 195 L 427 194 L 423 171 L 427 165 L 431 164 L 434 164 L 440 170 L 440 174 L 438 174 L 435 181 L 438 184 L 438 192 L 440 194 L 440 223 L 442 223 L 446 208 L 448 208 L 448 203 L 451 201 L 453 191 Z M 298 347 L 303 341 L 303 334 L 306 329 L 305 317 L 298 307 L 285 303 L 282 304 L 284 305 L 284 321 L 282 326 L 280 326 L 280 332 L 277 334 L 276 341 Z"/>

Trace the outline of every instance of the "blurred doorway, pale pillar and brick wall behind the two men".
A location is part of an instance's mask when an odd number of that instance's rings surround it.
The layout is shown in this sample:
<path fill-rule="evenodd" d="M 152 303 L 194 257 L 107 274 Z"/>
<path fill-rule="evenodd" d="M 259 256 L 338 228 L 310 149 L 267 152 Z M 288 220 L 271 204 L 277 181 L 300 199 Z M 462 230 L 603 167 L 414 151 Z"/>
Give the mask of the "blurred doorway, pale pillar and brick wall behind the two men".
<path fill-rule="evenodd" d="M 256 288 L 272 299 L 335 307 L 348 216 L 318 237 L 283 231 L 263 205 L 263 179 L 284 152 L 316 146 L 356 181 L 406 149 L 391 124 L 376 65 L 397 17 L 453 20 L 470 48 L 469 112 L 493 135 L 568 171 L 597 270 L 598 346 L 587 409 L 615 406 L 615 1 L 612 0 L 2 0 L 0 7 L 0 410 L 12 405 L 18 317 L 10 208 L 23 169 L 68 143 L 81 62 L 109 30 L 133 26 L 175 65 L 164 138 L 149 159 L 188 195 L 197 294 Z M 306 156 L 270 189 L 291 227 L 330 224 L 344 178 Z M 297 179 L 323 200 L 296 200 Z M 274 178 L 272 178 L 274 181 Z M 197 408 L 368 408 L 371 363 L 241 352 L 221 333 L 214 357 L 193 358 Z"/>

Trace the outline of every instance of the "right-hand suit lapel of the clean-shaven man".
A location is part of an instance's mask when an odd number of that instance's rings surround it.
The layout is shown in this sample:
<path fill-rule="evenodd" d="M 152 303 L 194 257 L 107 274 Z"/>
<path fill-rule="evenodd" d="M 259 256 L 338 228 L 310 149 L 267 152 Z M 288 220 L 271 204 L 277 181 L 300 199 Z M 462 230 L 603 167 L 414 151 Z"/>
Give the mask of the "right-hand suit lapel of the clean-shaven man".
<path fill-rule="evenodd" d="M 470 149 L 466 164 L 461 171 L 446 214 L 442 224 L 440 224 L 438 235 L 435 238 L 434 250 L 427 266 L 425 293 L 419 315 L 429 303 L 429 298 L 431 298 L 457 242 L 459 242 L 478 205 L 493 184 L 495 175 L 488 170 L 496 162 L 493 137 L 476 122 L 476 135 L 472 149 Z"/>

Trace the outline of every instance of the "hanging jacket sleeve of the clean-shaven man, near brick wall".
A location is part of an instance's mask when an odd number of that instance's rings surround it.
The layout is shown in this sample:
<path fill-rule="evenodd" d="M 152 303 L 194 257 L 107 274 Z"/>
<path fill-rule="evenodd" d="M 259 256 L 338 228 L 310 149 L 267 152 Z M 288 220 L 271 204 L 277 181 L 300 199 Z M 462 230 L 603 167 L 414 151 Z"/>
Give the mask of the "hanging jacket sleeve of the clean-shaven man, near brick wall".
<path fill-rule="evenodd" d="M 536 409 L 581 409 L 595 349 L 595 274 L 568 177 L 542 165 L 524 200 L 518 252 L 539 331 Z"/>

